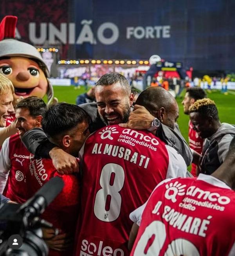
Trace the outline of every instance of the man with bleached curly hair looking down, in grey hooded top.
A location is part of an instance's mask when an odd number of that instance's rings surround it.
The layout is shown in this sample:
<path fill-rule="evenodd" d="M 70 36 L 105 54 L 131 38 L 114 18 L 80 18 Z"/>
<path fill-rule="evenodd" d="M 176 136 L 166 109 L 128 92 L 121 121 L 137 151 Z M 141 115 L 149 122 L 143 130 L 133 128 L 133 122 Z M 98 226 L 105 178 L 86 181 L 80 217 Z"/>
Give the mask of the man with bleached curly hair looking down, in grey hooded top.
<path fill-rule="evenodd" d="M 215 102 L 209 98 L 197 100 L 188 109 L 193 129 L 204 141 L 199 167 L 202 173 L 212 174 L 224 162 L 235 136 L 235 127 L 221 123 Z"/>

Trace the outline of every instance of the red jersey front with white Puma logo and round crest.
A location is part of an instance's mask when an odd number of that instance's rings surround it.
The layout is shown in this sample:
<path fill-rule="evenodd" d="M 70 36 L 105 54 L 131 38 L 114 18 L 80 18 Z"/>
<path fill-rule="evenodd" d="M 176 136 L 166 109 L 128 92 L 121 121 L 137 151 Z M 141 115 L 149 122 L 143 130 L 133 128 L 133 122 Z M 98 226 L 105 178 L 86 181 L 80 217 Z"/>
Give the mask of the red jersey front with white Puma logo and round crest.
<path fill-rule="evenodd" d="M 29 169 L 30 153 L 18 133 L 4 142 L 1 151 L 1 154 L 4 154 L 4 161 L 9 162 L 10 170 L 3 194 L 14 202 L 24 203 L 28 199 L 25 176 Z"/>

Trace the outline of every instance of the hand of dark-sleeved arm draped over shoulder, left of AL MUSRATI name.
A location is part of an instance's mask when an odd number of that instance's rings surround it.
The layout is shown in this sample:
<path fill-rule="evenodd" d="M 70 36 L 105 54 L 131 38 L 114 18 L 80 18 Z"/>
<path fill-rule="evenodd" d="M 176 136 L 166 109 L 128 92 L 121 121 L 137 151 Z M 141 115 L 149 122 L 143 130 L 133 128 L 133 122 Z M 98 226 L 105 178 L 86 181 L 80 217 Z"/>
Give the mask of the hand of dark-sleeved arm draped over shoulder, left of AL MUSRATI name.
<path fill-rule="evenodd" d="M 52 163 L 60 174 L 79 172 L 79 164 L 76 157 L 71 156 L 59 147 L 54 147 L 49 152 Z"/>

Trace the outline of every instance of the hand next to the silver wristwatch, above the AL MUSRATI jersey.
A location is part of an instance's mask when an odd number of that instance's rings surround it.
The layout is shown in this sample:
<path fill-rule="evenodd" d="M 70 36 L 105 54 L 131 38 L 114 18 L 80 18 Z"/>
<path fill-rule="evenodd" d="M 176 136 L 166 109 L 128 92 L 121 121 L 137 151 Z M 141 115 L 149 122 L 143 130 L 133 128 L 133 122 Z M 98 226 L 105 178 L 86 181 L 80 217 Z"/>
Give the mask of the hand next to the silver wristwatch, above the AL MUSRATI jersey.
<path fill-rule="evenodd" d="M 145 130 L 151 126 L 154 118 L 155 117 L 152 116 L 145 107 L 135 105 L 133 112 L 130 113 L 128 122 L 119 123 L 119 126 L 130 129 Z"/>

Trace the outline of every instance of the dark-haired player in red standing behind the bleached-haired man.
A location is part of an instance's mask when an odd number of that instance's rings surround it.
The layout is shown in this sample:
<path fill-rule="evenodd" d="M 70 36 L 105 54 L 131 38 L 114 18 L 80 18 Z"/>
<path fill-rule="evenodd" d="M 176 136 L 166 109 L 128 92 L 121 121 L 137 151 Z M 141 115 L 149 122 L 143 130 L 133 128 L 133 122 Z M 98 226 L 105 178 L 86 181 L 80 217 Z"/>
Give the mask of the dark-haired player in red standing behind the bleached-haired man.
<path fill-rule="evenodd" d="M 189 87 L 182 101 L 182 104 L 184 105 L 184 114 L 189 114 L 189 107 L 195 101 L 203 98 L 206 98 L 206 92 L 201 87 Z M 188 123 L 188 138 L 190 148 L 196 151 L 198 154 L 201 154 L 204 139 L 202 139 L 193 129 L 193 125 L 190 120 Z M 195 165 L 195 163 L 192 163 L 191 173 L 193 176 L 197 176 L 197 165 Z"/>

